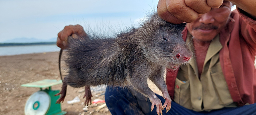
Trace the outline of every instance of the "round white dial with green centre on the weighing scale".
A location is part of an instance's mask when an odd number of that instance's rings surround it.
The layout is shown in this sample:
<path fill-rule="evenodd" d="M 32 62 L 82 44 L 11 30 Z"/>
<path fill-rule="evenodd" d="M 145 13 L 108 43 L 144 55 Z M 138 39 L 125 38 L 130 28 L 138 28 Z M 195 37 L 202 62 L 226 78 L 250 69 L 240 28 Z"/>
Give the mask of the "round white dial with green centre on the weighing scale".
<path fill-rule="evenodd" d="M 32 94 L 25 105 L 25 115 L 45 115 L 51 104 L 51 97 L 44 91 Z"/>

